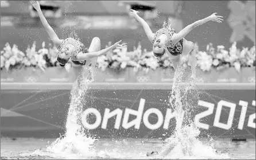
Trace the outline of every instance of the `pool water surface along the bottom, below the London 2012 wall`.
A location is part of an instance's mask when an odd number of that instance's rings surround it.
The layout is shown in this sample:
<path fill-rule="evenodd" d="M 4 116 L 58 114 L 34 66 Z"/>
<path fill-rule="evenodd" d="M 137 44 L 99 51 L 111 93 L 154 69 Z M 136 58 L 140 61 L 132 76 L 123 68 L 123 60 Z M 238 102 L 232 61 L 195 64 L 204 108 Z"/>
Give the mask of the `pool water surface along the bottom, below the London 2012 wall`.
<path fill-rule="evenodd" d="M 98 139 L 91 147 L 84 147 L 83 154 L 55 153 L 46 148 L 56 139 L 1 138 L 1 159 L 152 159 L 146 157 L 148 151 L 160 151 L 161 139 Z M 205 146 L 208 140 L 200 139 Z M 183 156 L 179 153 L 168 155 L 166 159 L 255 159 L 255 139 L 232 142 L 230 139 L 214 139 L 211 146 L 218 154 L 203 153 Z M 198 147 L 198 146 L 197 146 Z M 83 150 L 83 147 L 80 148 Z M 199 150 L 201 150 L 198 147 Z M 156 157 L 157 158 L 157 157 Z M 163 158 L 163 159 L 165 159 Z"/>

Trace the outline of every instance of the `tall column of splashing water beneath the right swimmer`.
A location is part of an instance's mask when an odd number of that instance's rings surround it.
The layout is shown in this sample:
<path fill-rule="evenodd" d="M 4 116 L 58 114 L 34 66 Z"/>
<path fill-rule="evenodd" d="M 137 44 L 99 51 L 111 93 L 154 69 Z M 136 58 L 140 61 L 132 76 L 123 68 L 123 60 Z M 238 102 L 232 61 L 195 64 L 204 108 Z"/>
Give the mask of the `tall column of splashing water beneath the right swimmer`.
<path fill-rule="evenodd" d="M 195 81 L 188 81 L 188 72 L 182 64 L 174 73 L 173 87 L 170 95 L 172 110 L 176 112 L 176 128 L 174 134 L 166 139 L 162 148 L 162 158 L 228 158 L 220 155 L 214 149 L 213 143 L 204 144 L 199 141 L 199 128 L 192 122 L 192 110 L 197 107 L 200 92 L 197 91 Z M 187 80 L 186 80 L 187 79 Z M 192 94 L 191 94 L 192 93 Z M 186 158 L 187 157 L 187 158 Z"/>

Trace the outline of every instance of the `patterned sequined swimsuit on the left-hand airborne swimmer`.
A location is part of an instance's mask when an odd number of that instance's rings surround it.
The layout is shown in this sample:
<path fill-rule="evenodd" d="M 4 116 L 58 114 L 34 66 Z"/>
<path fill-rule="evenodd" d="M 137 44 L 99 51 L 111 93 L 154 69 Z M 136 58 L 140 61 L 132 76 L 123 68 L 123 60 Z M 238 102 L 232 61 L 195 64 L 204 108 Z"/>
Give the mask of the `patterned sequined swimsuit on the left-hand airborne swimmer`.
<path fill-rule="evenodd" d="M 74 38 L 66 38 L 61 42 L 60 46 L 58 47 L 58 50 L 61 50 L 65 47 L 67 44 L 72 44 L 75 46 L 75 51 L 71 53 L 71 60 L 76 65 L 86 65 L 86 61 L 77 61 L 77 54 L 79 52 L 88 53 L 88 49 L 84 44 L 80 41 L 75 40 Z"/>

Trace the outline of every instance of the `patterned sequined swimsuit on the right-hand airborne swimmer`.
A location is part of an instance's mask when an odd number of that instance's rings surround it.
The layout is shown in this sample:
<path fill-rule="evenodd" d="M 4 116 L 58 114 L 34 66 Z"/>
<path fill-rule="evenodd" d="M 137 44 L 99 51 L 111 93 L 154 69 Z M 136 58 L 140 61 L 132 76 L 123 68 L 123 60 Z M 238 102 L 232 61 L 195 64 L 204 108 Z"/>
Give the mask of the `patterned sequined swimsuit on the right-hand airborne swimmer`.
<path fill-rule="evenodd" d="M 181 54 L 183 51 L 183 38 L 179 42 L 177 42 L 177 44 L 173 44 L 172 36 L 174 33 L 176 33 L 176 31 L 173 28 L 162 28 L 158 30 L 156 34 L 154 34 L 153 44 L 161 34 L 165 34 L 167 36 L 167 41 L 165 42 L 165 46 L 170 52 L 170 54 L 172 54 L 173 56 L 177 56 Z M 161 57 L 162 54 L 161 56 L 158 54 L 154 54 L 154 56 Z"/>

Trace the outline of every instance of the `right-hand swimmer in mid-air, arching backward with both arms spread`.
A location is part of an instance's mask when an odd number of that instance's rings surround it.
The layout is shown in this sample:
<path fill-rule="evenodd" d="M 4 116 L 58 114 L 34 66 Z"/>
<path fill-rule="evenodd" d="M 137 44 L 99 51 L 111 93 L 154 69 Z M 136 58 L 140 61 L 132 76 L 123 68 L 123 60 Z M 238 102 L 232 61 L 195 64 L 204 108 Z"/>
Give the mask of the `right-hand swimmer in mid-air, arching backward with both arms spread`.
<path fill-rule="evenodd" d="M 195 44 L 191 41 L 186 40 L 184 37 L 191 32 L 192 29 L 197 26 L 203 25 L 208 21 L 215 21 L 221 23 L 223 21 L 223 17 L 220 15 L 216 15 L 217 13 L 213 13 L 212 15 L 200 19 L 192 24 L 186 26 L 179 33 L 172 28 L 170 21 L 168 23 L 164 22 L 162 28 L 159 29 L 155 34 L 149 28 L 149 25 L 146 21 L 139 17 L 137 14 L 138 11 L 130 10 L 130 14 L 135 17 L 139 23 L 143 26 L 143 29 L 148 37 L 149 41 L 153 44 L 153 53 L 156 57 L 161 57 L 165 53 L 168 54 L 170 61 L 172 61 L 174 69 L 179 67 L 181 64 L 181 55 L 187 56 L 189 54 L 189 59 L 191 60 L 191 69 L 192 75 L 191 77 L 195 79 L 196 77 L 196 52 L 197 48 Z"/>

